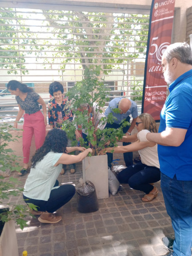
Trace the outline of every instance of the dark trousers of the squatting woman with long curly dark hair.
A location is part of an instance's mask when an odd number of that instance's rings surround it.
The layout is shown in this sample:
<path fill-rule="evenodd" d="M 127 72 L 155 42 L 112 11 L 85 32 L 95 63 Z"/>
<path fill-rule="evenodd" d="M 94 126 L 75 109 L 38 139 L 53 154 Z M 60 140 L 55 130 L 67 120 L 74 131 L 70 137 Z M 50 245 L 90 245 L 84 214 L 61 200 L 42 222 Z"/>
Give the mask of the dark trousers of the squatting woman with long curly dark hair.
<path fill-rule="evenodd" d="M 58 186 L 59 182 L 56 181 L 54 187 Z M 53 213 L 69 202 L 75 195 L 75 187 L 71 184 L 62 185 L 57 189 L 52 189 L 48 201 L 31 199 L 23 195 L 25 203 L 33 203 L 38 206 L 37 211 L 48 211 Z"/>

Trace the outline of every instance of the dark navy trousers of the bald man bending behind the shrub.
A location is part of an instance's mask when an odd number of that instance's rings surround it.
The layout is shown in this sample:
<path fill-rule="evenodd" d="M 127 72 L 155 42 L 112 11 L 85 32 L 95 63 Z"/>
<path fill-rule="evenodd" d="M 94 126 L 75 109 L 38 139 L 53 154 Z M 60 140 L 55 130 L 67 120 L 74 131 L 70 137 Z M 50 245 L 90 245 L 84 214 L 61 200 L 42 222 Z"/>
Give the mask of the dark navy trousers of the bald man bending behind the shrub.
<path fill-rule="evenodd" d="M 128 116 L 126 118 L 126 121 L 130 121 L 130 117 Z M 107 123 L 105 128 L 115 128 L 115 129 L 118 129 L 120 128 L 121 125 L 117 124 L 117 123 L 113 123 L 113 124 L 110 124 L 110 123 Z M 126 126 L 126 127 L 123 127 L 123 133 L 126 133 L 128 131 L 130 126 Z M 123 142 L 123 146 L 127 146 L 131 144 L 131 142 Z M 113 146 L 112 146 L 113 147 Z M 130 166 L 133 164 L 133 152 L 126 152 L 126 153 L 123 153 L 123 158 L 124 158 L 124 161 L 125 161 L 125 165 L 126 166 Z M 113 154 L 112 153 L 107 153 L 107 162 L 108 162 L 108 166 L 109 168 L 111 168 L 112 166 L 112 161 L 113 161 Z"/>

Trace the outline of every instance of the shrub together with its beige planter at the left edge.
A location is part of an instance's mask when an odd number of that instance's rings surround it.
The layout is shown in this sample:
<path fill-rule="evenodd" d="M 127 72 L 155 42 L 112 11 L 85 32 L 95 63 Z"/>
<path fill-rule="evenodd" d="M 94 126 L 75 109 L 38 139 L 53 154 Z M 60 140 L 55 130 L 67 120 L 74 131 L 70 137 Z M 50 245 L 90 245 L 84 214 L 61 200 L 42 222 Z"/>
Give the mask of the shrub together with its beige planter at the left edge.
<path fill-rule="evenodd" d="M 0 256 L 18 256 L 15 221 L 23 229 L 27 226 L 27 221 L 24 218 L 30 214 L 30 209 L 26 204 L 13 205 L 4 202 L 10 196 L 18 196 L 23 191 L 22 188 L 18 187 L 18 179 L 5 178 L 3 175 L 7 171 L 19 171 L 21 169 L 18 157 L 8 147 L 10 141 L 17 140 L 17 136 L 13 138 L 10 133 L 11 130 L 13 130 L 12 125 L 0 123 Z M 37 210 L 35 205 L 30 204 L 29 207 Z"/>

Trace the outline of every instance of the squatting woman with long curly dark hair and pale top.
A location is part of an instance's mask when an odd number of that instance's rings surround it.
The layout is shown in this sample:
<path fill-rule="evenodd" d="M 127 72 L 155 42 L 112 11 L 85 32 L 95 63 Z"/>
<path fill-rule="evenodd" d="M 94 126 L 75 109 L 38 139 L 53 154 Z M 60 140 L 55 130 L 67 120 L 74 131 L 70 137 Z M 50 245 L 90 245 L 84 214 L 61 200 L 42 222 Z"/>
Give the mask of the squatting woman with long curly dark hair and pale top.
<path fill-rule="evenodd" d="M 23 198 L 25 203 L 37 205 L 39 211 L 32 211 L 40 215 L 42 223 L 57 223 L 61 216 L 53 212 L 69 202 L 75 195 L 75 187 L 71 184 L 59 185 L 57 177 L 62 164 L 82 161 L 92 149 L 84 147 L 67 147 L 67 134 L 61 129 L 52 129 L 45 137 L 43 146 L 37 149 L 32 157 L 32 165 L 27 177 Z M 82 151 L 79 155 L 68 155 L 74 150 Z"/>

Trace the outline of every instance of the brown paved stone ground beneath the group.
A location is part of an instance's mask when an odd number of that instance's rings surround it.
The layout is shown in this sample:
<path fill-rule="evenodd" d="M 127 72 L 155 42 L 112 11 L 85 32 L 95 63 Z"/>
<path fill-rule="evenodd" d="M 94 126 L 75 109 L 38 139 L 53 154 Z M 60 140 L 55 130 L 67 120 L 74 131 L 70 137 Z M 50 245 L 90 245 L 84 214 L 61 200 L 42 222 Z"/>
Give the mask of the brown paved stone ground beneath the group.
<path fill-rule="evenodd" d="M 114 154 L 124 165 L 123 154 Z M 18 175 L 13 173 L 13 176 Z M 82 176 L 82 165 L 76 173 L 68 170 L 59 175 L 60 184 L 77 184 Z M 19 177 L 21 186 L 27 178 Z M 99 200 L 99 210 L 79 213 L 77 195 L 58 210 L 63 216 L 56 224 L 42 224 L 28 217 L 23 231 L 16 226 L 19 255 L 27 250 L 28 256 L 159 256 L 166 254 L 162 237 L 173 235 L 171 220 L 166 213 L 160 181 L 155 184 L 158 196 L 150 203 L 141 201 L 143 192 L 123 185 L 123 191 Z M 12 202 L 22 201 L 11 198 Z"/>

